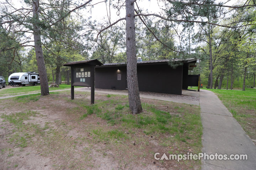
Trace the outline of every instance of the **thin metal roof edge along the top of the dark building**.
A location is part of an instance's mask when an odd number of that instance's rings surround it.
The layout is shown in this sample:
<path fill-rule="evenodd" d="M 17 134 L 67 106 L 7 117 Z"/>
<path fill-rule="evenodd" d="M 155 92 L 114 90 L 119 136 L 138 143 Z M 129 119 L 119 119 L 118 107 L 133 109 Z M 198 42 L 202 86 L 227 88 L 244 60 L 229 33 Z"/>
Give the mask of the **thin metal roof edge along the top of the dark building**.
<path fill-rule="evenodd" d="M 159 64 L 164 64 L 170 61 L 181 61 L 183 63 L 191 63 L 191 62 L 196 62 L 197 59 L 194 58 L 188 58 L 186 60 L 183 59 L 164 59 L 164 60 L 150 60 L 150 61 L 138 61 L 137 64 L 150 64 L 150 63 L 159 63 Z M 122 62 L 122 63 L 106 63 L 103 64 L 101 67 L 104 66 L 120 66 L 120 65 L 126 65 L 127 63 Z"/>

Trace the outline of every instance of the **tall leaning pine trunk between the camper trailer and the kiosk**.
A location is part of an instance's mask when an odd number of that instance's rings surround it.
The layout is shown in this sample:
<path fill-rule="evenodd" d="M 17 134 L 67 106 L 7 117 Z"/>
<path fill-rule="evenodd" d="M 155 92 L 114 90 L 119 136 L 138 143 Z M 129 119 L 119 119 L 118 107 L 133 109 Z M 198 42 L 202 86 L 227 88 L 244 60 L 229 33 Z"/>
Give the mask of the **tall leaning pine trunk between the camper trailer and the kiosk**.
<path fill-rule="evenodd" d="M 48 79 L 46 67 L 43 58 L 43 49 L 41 42 L 41 32 L 39 28 L 39 0 L 33 0 L 33 34 L 34 34 L 34 48 L 36 51 L 36 60 L 38 72 L 40 75 L 41 96 L 49 95 Z"/>

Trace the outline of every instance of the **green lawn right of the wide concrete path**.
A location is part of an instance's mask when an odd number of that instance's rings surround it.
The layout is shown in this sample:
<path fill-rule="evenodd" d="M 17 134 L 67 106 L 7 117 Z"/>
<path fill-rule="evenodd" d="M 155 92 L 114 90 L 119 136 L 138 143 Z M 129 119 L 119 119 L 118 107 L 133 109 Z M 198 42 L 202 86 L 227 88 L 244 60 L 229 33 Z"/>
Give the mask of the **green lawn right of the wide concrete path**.
<path fill-rule="evenodd" d="M 213 91 L 251 139 L 256 140 L 256 89 L 207 89 Z"/>

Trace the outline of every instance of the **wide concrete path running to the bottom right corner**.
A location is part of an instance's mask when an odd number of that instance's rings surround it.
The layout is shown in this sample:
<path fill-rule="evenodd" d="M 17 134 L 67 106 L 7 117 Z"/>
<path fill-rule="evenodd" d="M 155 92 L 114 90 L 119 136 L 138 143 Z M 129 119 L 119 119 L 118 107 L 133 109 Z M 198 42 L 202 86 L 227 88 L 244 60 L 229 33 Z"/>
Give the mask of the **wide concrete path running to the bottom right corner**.
<path fill-rule="evenodd" d="M 219 98 L 200 90 L 203 152 L 247 154 L 248 160 L 202 160 L 202 170 L 255 170 L 256 146 Z"/>

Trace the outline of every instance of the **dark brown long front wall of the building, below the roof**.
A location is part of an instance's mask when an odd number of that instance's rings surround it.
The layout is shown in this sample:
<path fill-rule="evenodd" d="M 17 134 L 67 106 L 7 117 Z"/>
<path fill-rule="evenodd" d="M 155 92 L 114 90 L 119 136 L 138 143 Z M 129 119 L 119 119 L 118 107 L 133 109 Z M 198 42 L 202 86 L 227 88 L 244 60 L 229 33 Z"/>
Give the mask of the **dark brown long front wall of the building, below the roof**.
<path fill-rule="evenodd" d="M 172 69 L 168 64 L 140 65 L 137 71 L 140 91 L 182 94 L 182 66 Z M 121 80 L 117 80 L 117 74 L 121 74 Z M 126 66 L 95 67 L 95 87 L 125 90 Z"/>

